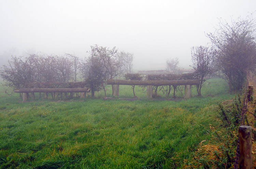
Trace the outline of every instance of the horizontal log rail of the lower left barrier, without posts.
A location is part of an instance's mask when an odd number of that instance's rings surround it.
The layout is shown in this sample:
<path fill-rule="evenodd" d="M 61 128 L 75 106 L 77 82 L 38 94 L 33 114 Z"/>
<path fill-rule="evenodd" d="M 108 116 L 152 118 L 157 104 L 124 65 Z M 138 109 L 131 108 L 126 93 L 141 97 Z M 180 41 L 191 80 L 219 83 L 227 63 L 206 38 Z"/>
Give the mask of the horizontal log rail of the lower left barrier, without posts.
<path fill-rule="evenodd" d="M 87 88 L 21 88 L 19 90 L 14 91 L 16 93 L 38 93 L 38 92 L 62 92 L 62 93 L 70 93 L 70 92 L 90 92 L 90 89 Z"/>

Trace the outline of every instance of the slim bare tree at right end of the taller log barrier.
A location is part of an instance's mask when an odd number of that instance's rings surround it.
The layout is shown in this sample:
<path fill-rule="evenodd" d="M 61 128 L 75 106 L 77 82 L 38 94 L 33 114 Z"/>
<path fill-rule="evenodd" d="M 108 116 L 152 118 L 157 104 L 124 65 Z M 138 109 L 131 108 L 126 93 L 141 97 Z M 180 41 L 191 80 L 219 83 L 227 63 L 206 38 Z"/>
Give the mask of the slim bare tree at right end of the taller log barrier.
<path fill-rule="evenodd" d="M 212 48 L 205 46 L 193 46 L 191 48 L 191 57 L 194 73 L 200 79 L 200 84 L 197 86 L 198 96 L 201 96 L 202 84 L 210 78 L 214 71 L 215 52 Z M 207 78 L 208 77 L 208 78 Z"/>

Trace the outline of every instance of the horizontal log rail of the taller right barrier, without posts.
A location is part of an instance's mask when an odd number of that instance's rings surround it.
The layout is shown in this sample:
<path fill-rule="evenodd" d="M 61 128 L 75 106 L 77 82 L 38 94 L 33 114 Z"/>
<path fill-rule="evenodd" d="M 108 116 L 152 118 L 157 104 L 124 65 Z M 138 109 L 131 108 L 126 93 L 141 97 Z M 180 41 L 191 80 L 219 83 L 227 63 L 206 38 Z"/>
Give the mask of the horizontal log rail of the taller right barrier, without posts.
<path fill-rule="evenodd" d="M 199 85 L 200 80 L 114 80 L 108 79 L 107 84 L 164 86 L 164 85 Z"/>

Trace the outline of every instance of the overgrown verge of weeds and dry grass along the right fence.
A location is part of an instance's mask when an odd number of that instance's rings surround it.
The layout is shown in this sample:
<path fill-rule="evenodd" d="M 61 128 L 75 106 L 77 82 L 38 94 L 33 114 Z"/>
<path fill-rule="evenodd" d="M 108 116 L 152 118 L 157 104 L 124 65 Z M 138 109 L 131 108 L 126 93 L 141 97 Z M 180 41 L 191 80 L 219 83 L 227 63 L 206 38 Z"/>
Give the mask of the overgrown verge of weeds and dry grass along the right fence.
<path fill-rule="evenodd" d="M 252 100 L 247 103 L 247 108 L 244 114 L 244 125 L 252 127 L 252 139 L 253 139 L 253 166 L 256 168 L 256 76 L 249 73 L 247 76 L 248 85 L 254 86 L 254 92 Z M 247 85 L 246 84 L 246 85 Z M 244 89 L 244 94 L 247 92 Z M 241 118 L 240 116 L 233 117 L 235 111 L 242 113 L 243 100 L 245 95 L 237 96 L 232 100 L 225 100 L 220 105 L 220 108 L 216 108 L 220 112 L 220 117 L 216 117 L 219 120 L 219 126 L 209 126 L 212 132 L 211 140 L 202 140 L 199 144 L 198 149 L 192 154 L 190 159 L 184 161 L 184 167 L 186 169 L 194 168 L 236 168 L 236 157 L 237 153 L 237 140 L 238 140 L 238 127 L 242 123 L 239 120 L 238 123 L 234 122 Z M 221 113 L 223 111 L 223 113 Z M 230 114 L 228 114 L 230 113 Z M 231 115 L 231 116 L 230 116 Z M 221 119 L 223 116 L 223 119 Z M 224 126 L 224 128 L 223 128 Z"/>

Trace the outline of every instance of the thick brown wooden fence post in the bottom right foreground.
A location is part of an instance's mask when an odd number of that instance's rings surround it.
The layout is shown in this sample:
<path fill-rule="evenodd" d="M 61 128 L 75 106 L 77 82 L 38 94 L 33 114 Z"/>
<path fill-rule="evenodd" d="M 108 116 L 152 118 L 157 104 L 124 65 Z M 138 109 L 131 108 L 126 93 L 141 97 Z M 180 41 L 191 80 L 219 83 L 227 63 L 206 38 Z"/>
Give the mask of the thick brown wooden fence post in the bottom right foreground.
<path fill-rule="evenodd" d="M 239 169 L 252 169 L 252 128 L 239 126 Z"/>

